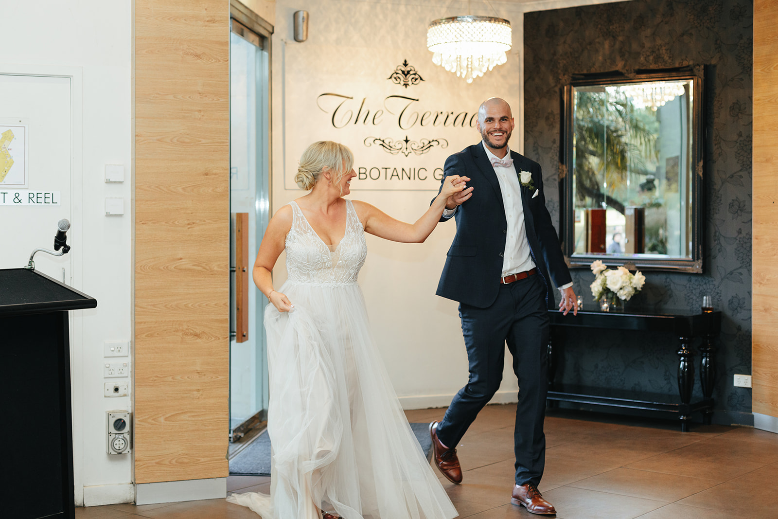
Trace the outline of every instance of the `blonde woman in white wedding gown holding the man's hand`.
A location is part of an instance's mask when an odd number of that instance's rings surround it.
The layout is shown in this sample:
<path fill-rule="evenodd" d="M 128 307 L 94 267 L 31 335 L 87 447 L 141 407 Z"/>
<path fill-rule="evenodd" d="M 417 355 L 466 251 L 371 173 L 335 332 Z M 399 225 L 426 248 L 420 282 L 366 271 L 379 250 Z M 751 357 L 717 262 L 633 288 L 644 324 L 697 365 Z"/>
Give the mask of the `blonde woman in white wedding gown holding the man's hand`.
<path fill-rule="evenodd" d="M 353 160 L 337 142 L 310 145 L 295 177 L 310 193 L 275 213 L 259 247 L 254 282 L 272 303 L 265 308 L 270 495 L 227 500 L 265 519 L 450 519 L 457 510 L 391 387 L 357 276 L 365 232 L 424 241 L 447 198 L 472 191 L 470 179 L 447 177 L 410 224 L 342 198 L 356 176 Z M 271 271 L 284 249 L 289 279 L 275 290 Z"/>

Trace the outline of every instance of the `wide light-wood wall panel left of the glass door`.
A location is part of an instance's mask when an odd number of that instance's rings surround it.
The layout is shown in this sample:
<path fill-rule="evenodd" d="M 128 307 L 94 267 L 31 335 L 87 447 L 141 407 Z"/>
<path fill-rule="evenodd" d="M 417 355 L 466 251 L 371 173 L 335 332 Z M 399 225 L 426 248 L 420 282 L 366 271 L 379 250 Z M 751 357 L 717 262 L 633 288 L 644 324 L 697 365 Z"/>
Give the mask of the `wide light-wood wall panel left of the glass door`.
<path fill-rule="evenodd" d="M 228 473 L 229 9 L 135 2 L 136 483 Z"/>

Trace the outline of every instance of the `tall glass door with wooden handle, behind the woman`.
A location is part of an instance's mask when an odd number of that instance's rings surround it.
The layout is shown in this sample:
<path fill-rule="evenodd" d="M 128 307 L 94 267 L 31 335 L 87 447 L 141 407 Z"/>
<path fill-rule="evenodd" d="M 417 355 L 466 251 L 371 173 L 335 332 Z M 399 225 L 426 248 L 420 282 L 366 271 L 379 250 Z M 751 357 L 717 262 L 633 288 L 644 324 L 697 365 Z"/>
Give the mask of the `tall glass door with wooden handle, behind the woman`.
<path fill-rule="evenodd" d="M 268 300 L 251 269 L 269 218 L 268 38 L 232 20 L 230 34 L 230 439 L 265 421 L 268 361 L 262 315 Z"/>

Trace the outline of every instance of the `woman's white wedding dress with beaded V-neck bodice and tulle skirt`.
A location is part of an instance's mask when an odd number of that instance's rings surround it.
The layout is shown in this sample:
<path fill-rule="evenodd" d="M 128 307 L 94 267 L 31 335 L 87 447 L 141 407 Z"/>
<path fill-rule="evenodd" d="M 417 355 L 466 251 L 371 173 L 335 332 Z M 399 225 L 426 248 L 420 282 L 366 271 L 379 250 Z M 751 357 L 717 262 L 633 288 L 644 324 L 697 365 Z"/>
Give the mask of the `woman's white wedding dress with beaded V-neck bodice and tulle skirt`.
<path fill-rule="evenodd" d="M 231 503 L 265 519 L 450 519 L 457 510 L 419 448 L 373 341 L 357 284 L 367 247 L 346 201 L 345 236 L 331 250 L 291 202 L 292 312 L 265 308 L 270 370 L 270 495 Z"/>

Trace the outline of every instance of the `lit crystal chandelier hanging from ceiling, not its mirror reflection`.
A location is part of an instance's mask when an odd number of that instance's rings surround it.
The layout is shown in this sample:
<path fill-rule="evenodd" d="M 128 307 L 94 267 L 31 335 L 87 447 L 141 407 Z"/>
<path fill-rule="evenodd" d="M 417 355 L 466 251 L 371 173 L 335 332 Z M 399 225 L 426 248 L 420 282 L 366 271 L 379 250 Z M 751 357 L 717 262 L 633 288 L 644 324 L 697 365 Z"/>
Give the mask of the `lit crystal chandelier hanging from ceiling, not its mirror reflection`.
<path fill-rule="evenodd" d="M 427 48 L 433 63 L 468 83 L 503 65 L 510 51 L 510 22 L 492 16 L 451 16 L 427 26 Z"/>

